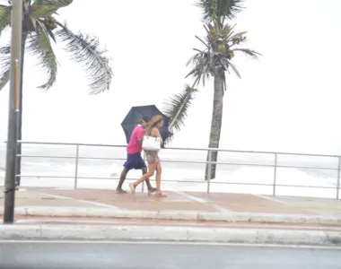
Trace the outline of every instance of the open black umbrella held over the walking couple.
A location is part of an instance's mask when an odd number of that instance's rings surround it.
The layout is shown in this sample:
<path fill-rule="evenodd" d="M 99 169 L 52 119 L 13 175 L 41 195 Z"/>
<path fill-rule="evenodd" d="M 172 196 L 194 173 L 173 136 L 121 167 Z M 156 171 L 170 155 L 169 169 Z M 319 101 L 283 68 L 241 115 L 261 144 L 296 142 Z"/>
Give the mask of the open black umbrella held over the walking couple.
<path fill-rule="evenodd" d="M 163 117 L 163 126 L 160 128 L 160 134 L 162 135 L 162 140 L 166 141 L 167 137 L 172 134 L 169 129 L 170 117 L 165 116 L 156 106 L 141 106 L 130 108 L 127 116 L 121 123 L 121 126 L 126 134 L 127 143 L 129 143 L 130 136 L 133 133 L 133 129 L 139 120 L 143 117 L 153 117 L 156 115 L 161 115 Z"/>

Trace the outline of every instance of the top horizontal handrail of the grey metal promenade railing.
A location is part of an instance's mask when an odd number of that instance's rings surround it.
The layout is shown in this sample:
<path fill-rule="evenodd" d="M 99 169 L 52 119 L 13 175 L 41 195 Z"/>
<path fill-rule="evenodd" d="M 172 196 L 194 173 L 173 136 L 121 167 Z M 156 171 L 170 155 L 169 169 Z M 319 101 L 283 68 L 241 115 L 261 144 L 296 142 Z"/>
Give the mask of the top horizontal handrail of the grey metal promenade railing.
<path fill-rule="evenodd" d="M 6 142 L 5 142 L 6 143 Z M 18 141 L 18 143 L 27 144 L 50 144 L 50 145 L 74 145 L 74 146 L 96 146 L 96 147 L 118 147 L 123 148 L 127 145 L 109 144 L 109 143 L 61 143 L 61 142 L 33 142 L 33 141 Z M 310 156 L 310 157 L 325 157 L 325 158 L 339 158 L 341 155 L 329 155 L 318 153 L 300 153 L 300 152 L 265 152 L 265 151 L 240 151 L 240 150 L 226 150 L 218 148 L 184 148 L 184 147 L 167 147 L 168 150 L 179 151 L 200 151 L 200 152 L 235 152 L 235 153 L 253 153 L 253 154 L 277 154 L 277 155 L 293 155 L 293 156 Z"/>

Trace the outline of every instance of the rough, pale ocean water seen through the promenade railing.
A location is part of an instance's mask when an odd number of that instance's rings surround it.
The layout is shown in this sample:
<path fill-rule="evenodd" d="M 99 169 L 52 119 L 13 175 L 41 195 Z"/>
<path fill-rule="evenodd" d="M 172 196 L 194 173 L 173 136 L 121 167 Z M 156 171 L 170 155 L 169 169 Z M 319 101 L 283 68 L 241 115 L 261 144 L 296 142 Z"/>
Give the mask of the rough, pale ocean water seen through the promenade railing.
<path fill-rule="evenodd" d="M 23 144 L 22 187 L 74 187 L 75 160 L 72 158 L 39 158 L 34 156 L 74 157 L 74 145 Z M 80 146 L 81 158 L 121 160 L 79 160 L 77 187 L 114 189 L 126 158 L 126 148 Z M 205 161 L 206 152 L 164 149 L 162 159 L 162 189 L 175 191 L 206 191 L 205 164 L 180 161 Z M 177 162 L 178 161 L 178 162 Z M 216 178 L 210 183 L 213 192 L 271 195 L 274 182 L 273 154 L 220 152 L 219 162 L 235 164 L 217 165 Z M 238 164 L 236 164 L 238 163 Z M 252 164 L 253 166 L 250 166 Z M 277 195 L 335 197 L 337 186 L 337 158 L 278 155 L 277 164 L 301 166 L 309 169 L 277 168 L 276 184 L 301 187 L 276 187 Z M 0 145 L 0 186 L 4 185 L 5 144 Z M 319 169 L 313 169 L 319 168 Z M 48 176 L 60 178 L 47 178 Z M 141 171 L 129 172 L 129 179 L 141 176 Z M 70 177 L 70 178 L 63 178 Z M 106 179 L 102 179 L 106 178 Z M 179 182 L 170 182 L 178 180 Z M 152 178 L 153 181 L 153 178 Z M 127 182 L 124 186 L 127 189 Z M 153 183 L 154 184 L 154 183 Z M 241 185 L 240 185 L 241 184 Z M 260 184 L 260 185 L 258 185 Z M 314 187 L 311 187 L 314 186 Z M 327 187 L 327 188 L 315 188 Z"/>

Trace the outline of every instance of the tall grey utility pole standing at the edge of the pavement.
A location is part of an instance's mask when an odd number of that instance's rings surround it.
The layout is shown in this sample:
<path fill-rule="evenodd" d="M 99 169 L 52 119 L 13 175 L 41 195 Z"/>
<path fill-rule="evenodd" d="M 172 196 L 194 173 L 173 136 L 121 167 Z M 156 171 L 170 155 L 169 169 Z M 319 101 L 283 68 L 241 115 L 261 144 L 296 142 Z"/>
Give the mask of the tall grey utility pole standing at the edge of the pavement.
<path fill-rule="evenodd" d="M 21 80 L 19 71 L 22 49 L 22 0 L 13 0 L 12 4 L 10 103 L 4 185 L 4 223 L 13 223 L 14 221 L 17 121 L 19 116 L 19 85 Z"/>

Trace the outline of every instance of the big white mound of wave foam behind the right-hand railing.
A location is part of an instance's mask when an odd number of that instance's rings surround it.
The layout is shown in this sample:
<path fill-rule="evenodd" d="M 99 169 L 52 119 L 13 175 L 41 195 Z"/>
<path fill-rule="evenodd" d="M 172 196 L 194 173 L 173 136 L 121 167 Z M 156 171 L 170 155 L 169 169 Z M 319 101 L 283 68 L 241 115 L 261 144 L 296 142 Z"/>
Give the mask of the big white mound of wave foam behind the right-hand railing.
<path fill-rule="evenodd" d="M 234 184 L 232 184 L 234 183 Z M 238 185 L 241 183 L 243 185 Z M 257 185 L 263 184 L 263 185 Z M 210 191 L 217 193 L 246 193 L 256 195 L 272 195 L 274 191 L 274 169 L 264 167 L 245 167 L 232 173 L 227 173 L 221 178 L 210 182 Z M 325 178 L 307 175 L 299 169 L 277 169 L 276 185 L 289 185 L 293 187 L 275 187 L 276 195 L 336 197 L 336 187 Z M 297 186 L 297 187 L 295 187 Z M 333 187 L 333 189 L 323 188 Z M 207 183 L 197 187 L 183 188 L 186 191 L 205 192 Z"/>

